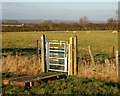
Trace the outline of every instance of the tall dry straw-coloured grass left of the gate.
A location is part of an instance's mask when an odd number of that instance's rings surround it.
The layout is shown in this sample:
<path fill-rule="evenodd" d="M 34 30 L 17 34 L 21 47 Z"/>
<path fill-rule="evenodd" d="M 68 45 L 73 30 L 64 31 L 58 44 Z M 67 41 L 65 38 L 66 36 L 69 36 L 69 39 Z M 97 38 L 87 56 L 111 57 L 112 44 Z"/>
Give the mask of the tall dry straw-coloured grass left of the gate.
<path fill-rule="evenodd" d="M 41 72 L 41 64 L 37 62 L 35 55 L 2 57 L 2 72 L 14 74 L 38 75 Z"/>

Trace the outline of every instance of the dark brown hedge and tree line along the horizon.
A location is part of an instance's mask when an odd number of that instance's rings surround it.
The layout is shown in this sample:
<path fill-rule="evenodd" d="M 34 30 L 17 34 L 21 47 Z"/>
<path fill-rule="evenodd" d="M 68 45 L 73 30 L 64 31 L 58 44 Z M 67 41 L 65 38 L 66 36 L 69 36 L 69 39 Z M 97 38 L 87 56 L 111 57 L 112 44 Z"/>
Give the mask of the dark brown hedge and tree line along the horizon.
<path fill-rule="evenodd" d="M 15 24 L 16 25 L 16 24 Z M 88 22 L 88 19 L 80 19 L 80 22 L 56 23 L 46 20 L 40 24 L 26 23 L 21 26 L 3 26 L 2 32 L 24 32 L 24 31 L 88 31 L 88 30 L 117 30 L 118 23 L 109 19 L 108 23 L 96 24 Z"/>

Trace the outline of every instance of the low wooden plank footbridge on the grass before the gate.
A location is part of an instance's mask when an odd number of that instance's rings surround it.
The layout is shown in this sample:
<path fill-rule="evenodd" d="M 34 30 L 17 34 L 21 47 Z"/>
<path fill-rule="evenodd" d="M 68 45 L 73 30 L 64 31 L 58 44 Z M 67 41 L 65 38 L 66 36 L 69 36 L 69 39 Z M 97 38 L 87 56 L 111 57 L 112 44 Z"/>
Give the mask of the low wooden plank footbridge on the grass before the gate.
<path fill-rule="evenodd" d="M 19 78 L 11 78 L 3 80 L 3 85 L 19 85 L 19 86 L 37 86 L 40 81 L 54 80 L 66 77 L 65 74 L 43 74 L 38 76 L 24 76 Z"/>

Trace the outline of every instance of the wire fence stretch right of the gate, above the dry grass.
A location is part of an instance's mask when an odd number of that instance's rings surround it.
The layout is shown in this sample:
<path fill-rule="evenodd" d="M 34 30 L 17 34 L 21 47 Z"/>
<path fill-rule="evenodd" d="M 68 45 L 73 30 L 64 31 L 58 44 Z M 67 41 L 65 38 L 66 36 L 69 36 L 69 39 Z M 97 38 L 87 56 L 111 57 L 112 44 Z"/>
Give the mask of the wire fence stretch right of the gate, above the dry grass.
<path fill-rule="evenodd" d="M 110 61 L 110 63 L 115 63 L 116 60 L 116 54 L 115 54 L 115 50 L 113 47 L 112 53 L 98 53 L 92 50 L 89 50 L 89 47 L 78 47 L 78 52 L 79 52 L 79 62 L 82 62 L 83 64 L 90 64 L 91 63 L 91 56 L 90 56 L 90 52 L 94 58 L 94 62 L 96 64 L 103 64 L 105 63 L 105 59 L 108 59 Z"/>

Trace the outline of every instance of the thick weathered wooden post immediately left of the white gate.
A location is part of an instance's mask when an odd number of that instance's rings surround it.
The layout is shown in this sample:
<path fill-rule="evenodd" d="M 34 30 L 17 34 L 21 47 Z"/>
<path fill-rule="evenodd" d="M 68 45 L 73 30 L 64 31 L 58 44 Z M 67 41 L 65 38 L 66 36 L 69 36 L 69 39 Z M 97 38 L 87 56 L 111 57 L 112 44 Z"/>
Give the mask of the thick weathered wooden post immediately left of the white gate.
<path fill-rule="evenodd" d="M 45 64 L 45 35 L 41 36 L 41 63 L 42 63 L 42 72 L 46 72 L 46 64 Z"/>

